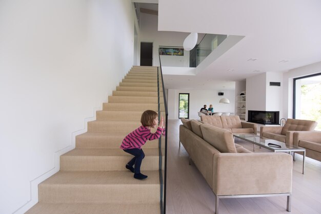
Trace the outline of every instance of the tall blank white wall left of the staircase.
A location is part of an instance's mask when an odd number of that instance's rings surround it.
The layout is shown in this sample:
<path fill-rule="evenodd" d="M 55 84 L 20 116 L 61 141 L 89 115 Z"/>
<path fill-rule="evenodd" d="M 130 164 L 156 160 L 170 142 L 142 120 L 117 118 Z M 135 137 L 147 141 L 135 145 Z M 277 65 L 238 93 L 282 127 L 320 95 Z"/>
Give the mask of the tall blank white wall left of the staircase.
<path fill-rule="evenodd" d="M 133 65 L 132 11 L 127 0 L 0 1 L 0 213 L 37 202 Z"/>

